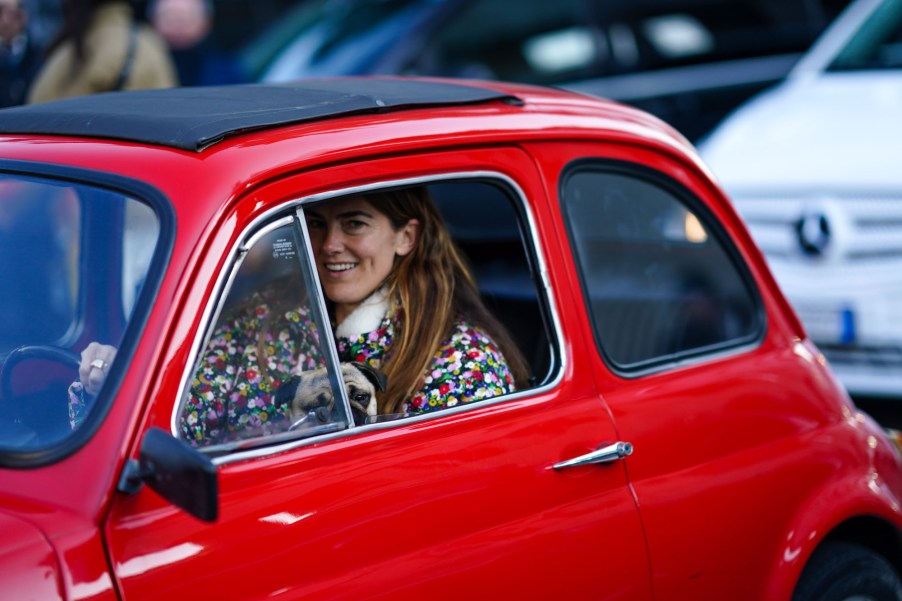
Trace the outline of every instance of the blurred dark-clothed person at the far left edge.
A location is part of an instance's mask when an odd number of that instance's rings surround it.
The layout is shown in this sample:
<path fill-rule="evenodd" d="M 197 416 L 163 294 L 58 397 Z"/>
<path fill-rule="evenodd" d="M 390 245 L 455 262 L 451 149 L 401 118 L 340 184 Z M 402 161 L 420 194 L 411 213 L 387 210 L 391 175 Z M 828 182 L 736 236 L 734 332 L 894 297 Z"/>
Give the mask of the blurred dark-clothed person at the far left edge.
<path fill-rule="evenodd" d="M 28 12 L 19 0 L 0 0 L 0 107 L 25 102 L 40 65 L 40 50 L 28 31 Z"/>

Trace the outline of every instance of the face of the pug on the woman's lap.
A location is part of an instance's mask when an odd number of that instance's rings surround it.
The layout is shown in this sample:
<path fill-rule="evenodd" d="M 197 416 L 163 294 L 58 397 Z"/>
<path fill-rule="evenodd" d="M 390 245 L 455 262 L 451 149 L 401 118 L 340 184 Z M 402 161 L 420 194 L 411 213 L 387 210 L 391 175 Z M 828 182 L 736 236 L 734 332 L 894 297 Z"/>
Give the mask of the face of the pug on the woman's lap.
<path fill-rule="evenodd" d="M 376 415 L 376 390 L 385 391 L 386 376 L 381 371 L 357 362 L 341 364 L 341 377 L 348 391 L 354 422 L 362 424 L 367 416 Z M 325 368 L 292 376 L 276 392 L 276 400 L 288 405 L 292 424 L 311 412 L 320 423 L 329 421 L 335 398 Z"/>

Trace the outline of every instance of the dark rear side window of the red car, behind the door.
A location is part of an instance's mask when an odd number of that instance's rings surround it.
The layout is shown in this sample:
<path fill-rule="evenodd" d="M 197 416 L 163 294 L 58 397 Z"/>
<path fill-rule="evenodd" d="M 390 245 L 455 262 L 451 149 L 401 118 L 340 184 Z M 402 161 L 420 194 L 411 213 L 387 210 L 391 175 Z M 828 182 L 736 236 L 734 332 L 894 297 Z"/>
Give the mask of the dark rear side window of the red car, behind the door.
<path fill-rule="evenodd" d="M 762 313 L 725 235 L 687 190 L 643 173 L 583 166 L 561 190 L 603 356 L 635 372 L 755 340 Z"/>

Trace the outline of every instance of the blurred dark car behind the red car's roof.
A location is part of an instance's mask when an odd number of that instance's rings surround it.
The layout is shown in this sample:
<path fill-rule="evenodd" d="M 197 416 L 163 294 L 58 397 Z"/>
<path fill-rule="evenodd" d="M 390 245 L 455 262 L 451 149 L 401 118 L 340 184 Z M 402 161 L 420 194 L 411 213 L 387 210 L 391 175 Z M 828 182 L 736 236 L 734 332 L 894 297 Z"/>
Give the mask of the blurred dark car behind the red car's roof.
<path fill-rule="evenodd" d="M 242 51 L 261 81 L 478 77 L 628 102 L 690 140 L 782 79 L 846 0 L 307 0 Z"/>

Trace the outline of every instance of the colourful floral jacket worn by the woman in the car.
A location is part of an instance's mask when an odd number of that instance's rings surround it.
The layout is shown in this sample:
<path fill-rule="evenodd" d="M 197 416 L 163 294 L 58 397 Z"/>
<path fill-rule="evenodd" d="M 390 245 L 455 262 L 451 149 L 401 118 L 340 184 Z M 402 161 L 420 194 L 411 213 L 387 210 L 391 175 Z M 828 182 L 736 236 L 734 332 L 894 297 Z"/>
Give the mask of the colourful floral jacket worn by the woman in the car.
<path fill-rule="evenodd" d="M 336 333 L 341 361 L 381 368 L 391 352 L 399 312 L 385 315 L 372 331 Z M 291 375 L 325 365 L 309 310 L 290 310 L 267 324 L 270 305 L 262 302 L 220 322 L 179 413 L 180 436 L 195 446 L 282 432 L 288 407 L 275 391 Z M 261 332 L 265 369 L 258 361 Z M 265 371 L 266 373 L 261 373 Z M 512 392 L 513 378 L 500 350 L 481 329 L 458 321 L 423 374 L 422 387 L 403 410 L 424 413 Z M 70 417 L 78 421 L 85 404 L 80 383 L 70 387 Z"/>

